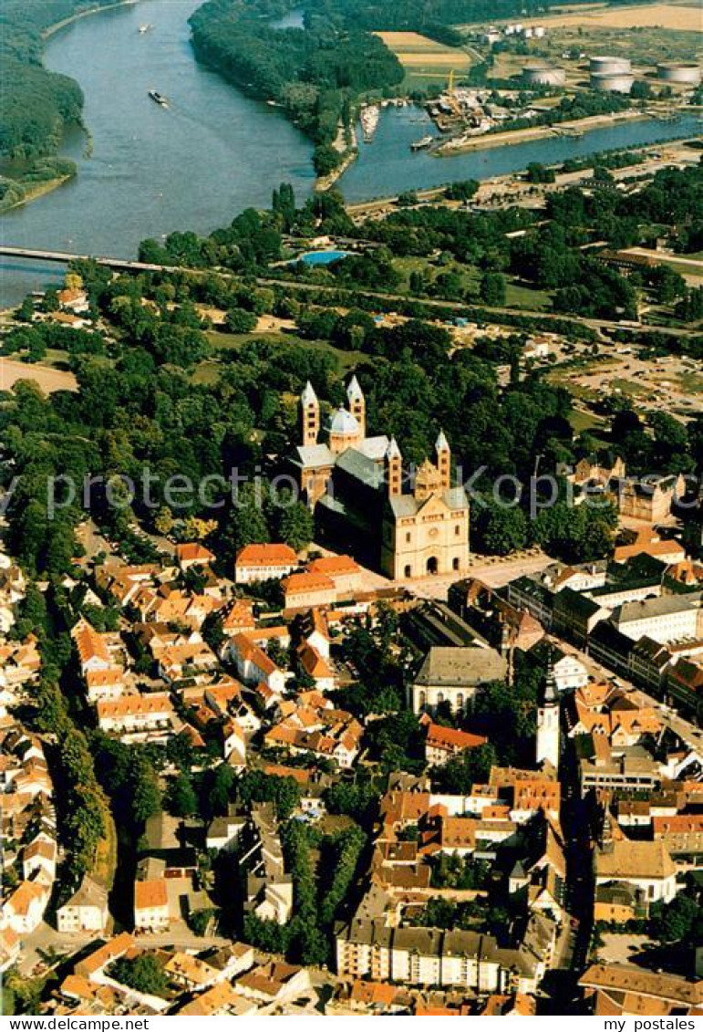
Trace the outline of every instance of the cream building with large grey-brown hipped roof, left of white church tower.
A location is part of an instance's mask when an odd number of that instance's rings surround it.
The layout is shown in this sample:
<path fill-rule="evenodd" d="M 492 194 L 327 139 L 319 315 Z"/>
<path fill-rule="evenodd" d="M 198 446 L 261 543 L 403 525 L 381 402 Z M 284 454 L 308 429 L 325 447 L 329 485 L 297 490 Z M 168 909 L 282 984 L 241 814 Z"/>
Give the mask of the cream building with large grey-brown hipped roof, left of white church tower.
<path fill-rule="evenodd" d="M 435 712 L 442 703 L 453 712 L 464 712 L 481 684 L 503 680 L 506 674 L 507 662 L 495 649 L 431 648 L 410 689 L 413 712 Z"/>

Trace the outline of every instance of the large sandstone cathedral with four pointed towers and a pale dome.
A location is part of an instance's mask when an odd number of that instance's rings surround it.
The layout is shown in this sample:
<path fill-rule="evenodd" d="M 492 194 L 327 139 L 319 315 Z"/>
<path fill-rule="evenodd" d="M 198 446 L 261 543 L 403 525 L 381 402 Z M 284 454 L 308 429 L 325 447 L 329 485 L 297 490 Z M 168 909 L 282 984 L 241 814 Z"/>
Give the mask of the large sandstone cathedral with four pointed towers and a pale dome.
<path fill-rule="evenodd" d="M 460 575 L 469 559 L 469 502 L 451 484 L 451 452 L 443 432 L 435 462 L 403 469 L 395 439 L 366 436 L 359 381 L 347 408 L 333 412 L 320 441 L 321 407 L 308 383 L 300 398 L 302 444 L 296 449 L 301 496 L 315 514 L 321 540 L 394 580 Z"/>

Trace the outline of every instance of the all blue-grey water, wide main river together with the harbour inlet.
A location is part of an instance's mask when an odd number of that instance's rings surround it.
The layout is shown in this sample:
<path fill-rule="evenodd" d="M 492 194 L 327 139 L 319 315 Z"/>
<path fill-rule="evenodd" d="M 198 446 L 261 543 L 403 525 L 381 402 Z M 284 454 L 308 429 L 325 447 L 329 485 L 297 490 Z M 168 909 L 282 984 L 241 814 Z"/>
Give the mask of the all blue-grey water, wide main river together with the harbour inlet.
<path fill-rule="evenodd" d="M 30 0 L 38 3 L 41 0 Z M 86 94 L 87 138 L 71 130 L 64 153 L 78 175 L 59 190 L 0 219 L 0 237 L 15 247 L 133 257 L 146 236 L 174 229 L 205 233 L 242 208 L 267 206 L 271 191 L 292 183 L 298 199 L 313 186 L 310 142 L 283 116 L 245 97 L 199 65 L 188 19 L 200 0 L 140 0 L 80 19 L 46 43 L 45 63 L 72 75 Z M 140 35 L 140 24 L 153 28 Z M 300 25 L 299 12 L 280 27 Z M 169 98 L 166 110 L 149 89 Z M 450 180 L 486 179 L 613 147 L 693 134 L 696 120 L 636 122 L 589 133 L 475 151 L 438 159 L 411 154 L 429 129 L 417 108 L 383 111 L 372 143 L 340 181 L 363 200 Z M 36 263 L 0 265 L 0 305 L 58 281 L 63 270 Z"/>

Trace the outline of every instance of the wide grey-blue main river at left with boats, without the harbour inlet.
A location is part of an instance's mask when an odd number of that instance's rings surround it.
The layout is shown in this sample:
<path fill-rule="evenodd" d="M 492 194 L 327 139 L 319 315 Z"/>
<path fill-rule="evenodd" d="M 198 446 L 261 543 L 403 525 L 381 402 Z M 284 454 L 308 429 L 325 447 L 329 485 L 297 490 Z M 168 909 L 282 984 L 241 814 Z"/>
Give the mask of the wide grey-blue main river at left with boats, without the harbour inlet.
<path fill-rule="evenodd" d="M 71 130 L 63 152 L 77 161 L 76 179 L 3 216 L 3 243 L 132 257 L 145 236 L 205 233 L 245 207 L 268 206 L 283 181 L 298 199 L 309 195 L 309 140 L 195 60 L 188 19 L 200 2 L 140 0 L 79 19 L 47 40 L 46 66 L 77 79 L 86 95 L 92 154 L 83 156 L 87 139 Z M 153 28 L 140 35 L 140 24 Z M 167 110 L 150 89 L 166 94 Z M 14 263 L 0 273 L 6 305 L 52 269 Z"/>

